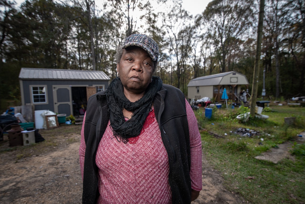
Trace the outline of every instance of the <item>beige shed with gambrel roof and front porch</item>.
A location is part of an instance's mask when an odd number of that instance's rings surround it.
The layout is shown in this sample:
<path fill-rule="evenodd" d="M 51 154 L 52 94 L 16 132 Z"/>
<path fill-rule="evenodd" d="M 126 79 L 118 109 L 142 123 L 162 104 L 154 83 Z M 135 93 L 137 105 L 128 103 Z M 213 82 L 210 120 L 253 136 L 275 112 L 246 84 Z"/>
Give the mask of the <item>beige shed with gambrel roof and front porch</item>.
<path fill-rule="evenodd" d="M 236 71 L 197 77 L 188 83 L 188 98 L 209 97 L 220 102 L 222 91 L 226 88 L 229 100 L 236 101 L 239 100 L 242 85 L 248 88 L 248 79 Z"/>

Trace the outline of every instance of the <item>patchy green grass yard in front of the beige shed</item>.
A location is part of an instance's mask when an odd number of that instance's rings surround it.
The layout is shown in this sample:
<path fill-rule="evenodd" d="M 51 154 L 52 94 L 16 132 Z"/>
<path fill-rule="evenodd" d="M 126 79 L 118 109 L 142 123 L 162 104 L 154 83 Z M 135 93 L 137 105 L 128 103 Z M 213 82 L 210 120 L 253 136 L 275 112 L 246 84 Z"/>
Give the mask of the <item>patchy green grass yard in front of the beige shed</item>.
<path fill-rule="evenodd" d="M 305 203 L 305 145 L 295 142 L 305 128 L 305 108 L 271 106 L 267 110 L 263 112 L 269 115 L 267 120 L 250 118 L 246 123 L 235 119 L 249 111 L 245 107 L 213 108 L 211 119 L 204 117 L 203 109 L 195 111 L 204 128 L 200 131 L 204 154 L 213 168 L 222 173 L 225 187 L 250 203 Z M 296 117 L 296 122 L 287 126 L 285 117 Z M 239 127 L 260 131 L 260 135 L 241 137 L 235 133 Z M 274 164 L 254 158 L 283 142 L 291 143 L 294 159 Z"/>

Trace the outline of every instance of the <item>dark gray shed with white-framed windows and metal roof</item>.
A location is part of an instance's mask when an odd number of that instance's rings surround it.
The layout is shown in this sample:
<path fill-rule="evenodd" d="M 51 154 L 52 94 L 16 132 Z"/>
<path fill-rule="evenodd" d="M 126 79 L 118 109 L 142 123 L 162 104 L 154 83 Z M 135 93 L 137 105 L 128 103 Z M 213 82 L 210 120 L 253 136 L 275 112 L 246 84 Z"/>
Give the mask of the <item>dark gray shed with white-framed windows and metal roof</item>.
<path fill-rule="evenodd" d="M 21 68 L 19 82 L 22 105 L 78 116 L 91 95 L 108 88 L 110 78 L 103 71 Z"/>

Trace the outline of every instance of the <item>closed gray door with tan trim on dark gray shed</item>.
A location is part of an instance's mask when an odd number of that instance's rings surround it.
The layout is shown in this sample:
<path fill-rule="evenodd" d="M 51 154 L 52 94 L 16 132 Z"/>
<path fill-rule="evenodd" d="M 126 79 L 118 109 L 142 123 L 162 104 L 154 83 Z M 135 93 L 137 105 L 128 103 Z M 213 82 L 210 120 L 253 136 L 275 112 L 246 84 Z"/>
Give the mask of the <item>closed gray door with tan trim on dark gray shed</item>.
<path fill-rule="evenodd" d="M 53 86 L 53 100 L 54 112 L 58 114 L 66 114 L 66 116 L 73 113 L 70 86 Z"/>

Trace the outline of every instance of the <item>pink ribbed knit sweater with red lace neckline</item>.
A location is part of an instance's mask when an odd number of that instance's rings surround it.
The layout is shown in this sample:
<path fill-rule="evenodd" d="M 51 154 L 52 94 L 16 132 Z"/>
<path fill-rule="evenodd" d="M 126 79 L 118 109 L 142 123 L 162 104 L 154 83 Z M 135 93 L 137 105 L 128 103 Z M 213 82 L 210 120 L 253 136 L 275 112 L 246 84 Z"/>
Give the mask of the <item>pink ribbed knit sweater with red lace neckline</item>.
<path fill-rule="evenodd" d="M 192 108 L 186 101 L 191 146 L 192 189 L 202 189 L 201 139 Z M 150 111 L 139 136 L 127 144 L 113 137 L 110 122 L 99 143 L 95 162 L 99 168 L 98 203 L 171 203 L 169 163 L 154 111 Z M 153 134 L 152 134 L 153 133 Z M 84 170 L 84 124 L 79 149 Z"/>

